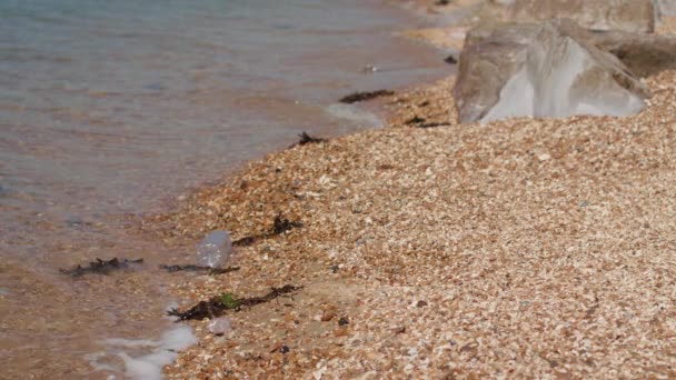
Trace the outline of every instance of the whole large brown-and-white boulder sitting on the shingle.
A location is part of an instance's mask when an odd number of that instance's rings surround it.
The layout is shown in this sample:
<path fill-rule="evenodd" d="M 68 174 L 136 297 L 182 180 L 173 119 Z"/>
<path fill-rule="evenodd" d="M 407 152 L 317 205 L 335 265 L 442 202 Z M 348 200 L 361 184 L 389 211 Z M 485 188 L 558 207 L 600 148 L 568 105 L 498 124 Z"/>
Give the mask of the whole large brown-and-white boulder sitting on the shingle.
<path fill-rule="evenodd" d="M 460 122 L 517 116 L 626 116 L 647 90 L 570 20 L 470 32 L 454 89 Z"/>

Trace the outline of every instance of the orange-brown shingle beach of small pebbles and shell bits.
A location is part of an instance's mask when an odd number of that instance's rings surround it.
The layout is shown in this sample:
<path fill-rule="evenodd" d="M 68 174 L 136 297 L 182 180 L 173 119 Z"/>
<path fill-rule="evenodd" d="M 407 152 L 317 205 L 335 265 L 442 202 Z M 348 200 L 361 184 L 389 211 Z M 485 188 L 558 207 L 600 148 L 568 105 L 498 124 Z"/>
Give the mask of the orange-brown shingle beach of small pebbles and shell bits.
<path fill-rule="evenodd" d="M 676 376 L 676 72 L 645 79 L 626 118 L 464 124 L 454 80 L 386 98 L 385 128 L 268 154 L 146 221 L 173 244 L 301 224 L 171 289 L 185 310 L 302 287 L 228 311 L 222 337 L 181 322 L 199 343 L 168 379 Z"/>

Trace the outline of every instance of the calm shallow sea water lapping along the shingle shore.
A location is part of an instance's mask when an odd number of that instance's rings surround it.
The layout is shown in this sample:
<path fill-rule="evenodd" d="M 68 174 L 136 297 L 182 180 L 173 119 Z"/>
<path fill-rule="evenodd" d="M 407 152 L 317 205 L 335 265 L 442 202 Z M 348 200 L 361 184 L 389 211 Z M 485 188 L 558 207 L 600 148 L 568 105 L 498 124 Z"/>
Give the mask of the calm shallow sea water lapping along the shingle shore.
<path fill-rule="evenodd" d="M 378 122 L 336 106 L 346 93 L 444 74 L 444 52 L 392 37 L 421 21 L 382 2 L 0 0 L 0 377 L 105 377 L 87 358 L 107 339 L 167 329 L 171 276 L 153 268 L 193 254 L 120 216 L 162 210 L 302 130 Z M 147 263 L 58 271 L 112 257 Z"/>

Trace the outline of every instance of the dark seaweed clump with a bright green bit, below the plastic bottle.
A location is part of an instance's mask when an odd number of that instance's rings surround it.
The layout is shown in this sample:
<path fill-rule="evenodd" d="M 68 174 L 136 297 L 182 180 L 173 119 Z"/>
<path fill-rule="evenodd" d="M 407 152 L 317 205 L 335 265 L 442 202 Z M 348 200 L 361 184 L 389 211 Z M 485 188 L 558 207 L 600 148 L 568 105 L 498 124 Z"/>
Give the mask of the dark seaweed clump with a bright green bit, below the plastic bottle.
<path fill-rule="evenodd" d="M 167 314 L 177 317 L 178 321 L 185 320 L 202 320 L 205 318 L 218 318 L 226 311 L 241 311 L 245 307 L 252 307 L 256 304 L 269 302 L 276 298 L 294 293 L 302 287 L 296 287 L 286 284 L 281 288 L 272 288 L 270 292 L 262 297 L 249 297 L 249 298 L 235 298 L 231 293 L 223 293 L 221 296 L 212 297 L 208 301 L 199 301 L 192 308 L 186 311 L 178 311 L 178 309 L 171 309 Z"/>

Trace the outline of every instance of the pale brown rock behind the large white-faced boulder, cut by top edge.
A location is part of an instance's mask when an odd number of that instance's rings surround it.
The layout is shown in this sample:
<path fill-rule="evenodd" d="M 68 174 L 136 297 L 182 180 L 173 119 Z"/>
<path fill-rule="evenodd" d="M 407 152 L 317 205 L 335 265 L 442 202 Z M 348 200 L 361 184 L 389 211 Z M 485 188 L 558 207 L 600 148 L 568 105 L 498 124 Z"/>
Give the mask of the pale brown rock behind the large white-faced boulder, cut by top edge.
<path fill-rule="evenodd" d="M 507 7 L 508 20 L 540 22 L 567 18 L 592 30 L 655 30 L 654 0 L 513 0 Z M 670 2 L 670 0 L 663 0 Z"/>

